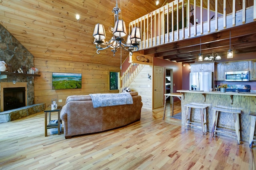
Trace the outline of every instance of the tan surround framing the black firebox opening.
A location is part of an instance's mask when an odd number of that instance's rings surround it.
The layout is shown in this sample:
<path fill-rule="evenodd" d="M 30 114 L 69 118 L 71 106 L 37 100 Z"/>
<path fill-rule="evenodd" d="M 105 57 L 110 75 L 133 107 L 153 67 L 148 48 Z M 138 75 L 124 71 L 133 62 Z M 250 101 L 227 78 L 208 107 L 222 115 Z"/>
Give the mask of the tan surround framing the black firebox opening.
<path fill-rule="evenodd" d="M 25 100 L 26 100 L 26 106 L 28 106 L 27 83 L 26 82 L 16 82 L 16 84 L 8 83 L 8 82 L 2 82 L 2 83 L 0 83 L 1 111 L 4 111 L 4 99 L 2 99 L 2 97 L 4 96 L 4 88 L 13 88 L 13 87 L 25 87 L 25 90 L 26 90 Z"/>

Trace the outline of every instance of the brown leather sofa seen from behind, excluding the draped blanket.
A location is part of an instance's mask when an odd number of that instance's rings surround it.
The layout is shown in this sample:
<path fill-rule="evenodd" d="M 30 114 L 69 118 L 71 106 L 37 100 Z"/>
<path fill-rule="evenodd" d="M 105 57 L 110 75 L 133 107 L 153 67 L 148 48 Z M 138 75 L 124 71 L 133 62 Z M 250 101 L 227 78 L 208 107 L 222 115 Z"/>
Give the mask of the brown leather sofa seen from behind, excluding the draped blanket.
<path fill-rule="evenodd" d="M 65 138 L 106 131 L 140 120 L 141 96 L 138 92 L 129 93 L 133 104 L 97 108 L 93 107 L 90 95 L 68 96 L 60 112 Z"/>

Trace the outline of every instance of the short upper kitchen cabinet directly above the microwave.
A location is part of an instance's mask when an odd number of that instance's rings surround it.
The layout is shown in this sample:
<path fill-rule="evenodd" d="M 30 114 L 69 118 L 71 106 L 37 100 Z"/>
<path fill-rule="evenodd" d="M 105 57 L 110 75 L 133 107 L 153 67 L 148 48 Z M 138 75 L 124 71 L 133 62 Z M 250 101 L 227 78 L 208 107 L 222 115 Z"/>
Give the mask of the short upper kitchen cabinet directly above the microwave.
<path fill-rule="evenodd" d="M 248 71 L 249 61 L 236 61 L 224 64 L 224 71 Z"/>

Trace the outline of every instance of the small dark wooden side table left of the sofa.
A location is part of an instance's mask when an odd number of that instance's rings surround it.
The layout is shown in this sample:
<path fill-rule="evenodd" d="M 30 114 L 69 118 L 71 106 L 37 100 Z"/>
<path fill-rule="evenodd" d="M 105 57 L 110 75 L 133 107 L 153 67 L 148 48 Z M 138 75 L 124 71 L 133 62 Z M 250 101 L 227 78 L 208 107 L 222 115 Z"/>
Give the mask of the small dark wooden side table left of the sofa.
<path fill-rule="evenodd" d="M 62 120 L 60 119 L 60 111 L 62 106 L 58 106 L 57 109 L 52 109 L 51 107 L 47 107 L 44 110 L 44 136 L 47 136 L 47 129 L 57 128 L 58 127 L 58 135 L 60 135 L 60 124 L 62 124 Z M 58 122 L 53 123 L 54 120 L 51 119 L 51 113 L 58 112 Z M 49 113 L 49 123 L 47 124 L 47 113 Z"/>

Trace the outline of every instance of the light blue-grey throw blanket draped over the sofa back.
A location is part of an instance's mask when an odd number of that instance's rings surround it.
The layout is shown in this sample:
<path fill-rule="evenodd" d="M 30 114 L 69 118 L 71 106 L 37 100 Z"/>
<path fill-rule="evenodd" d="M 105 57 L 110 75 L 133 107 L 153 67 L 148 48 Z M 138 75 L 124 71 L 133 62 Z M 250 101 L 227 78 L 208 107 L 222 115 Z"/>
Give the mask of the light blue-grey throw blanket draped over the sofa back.
<path fill-rule="evenodd" d="M 93 107 L 133 104 L 130 93 L 90 94 Z"/>

